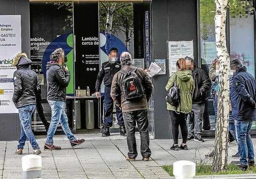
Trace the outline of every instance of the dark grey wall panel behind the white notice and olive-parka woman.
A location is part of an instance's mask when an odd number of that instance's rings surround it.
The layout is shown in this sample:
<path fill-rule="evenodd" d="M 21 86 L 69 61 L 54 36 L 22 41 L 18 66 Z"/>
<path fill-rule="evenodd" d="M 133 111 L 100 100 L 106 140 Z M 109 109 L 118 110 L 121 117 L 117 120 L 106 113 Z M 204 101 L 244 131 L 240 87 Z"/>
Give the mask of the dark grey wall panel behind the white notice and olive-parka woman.
<path fill-rule="evenodd" d="M 166 75 L 154 76 L 155 138 L 172 138 L 169 112 L 164 101 L 169 78 L 167 41 L 193 40 L 197 59 L 197 0 L 152 1 L 153 59 L 166 59 Z M 181 56 L 182 57 L 182 56 Z"/>

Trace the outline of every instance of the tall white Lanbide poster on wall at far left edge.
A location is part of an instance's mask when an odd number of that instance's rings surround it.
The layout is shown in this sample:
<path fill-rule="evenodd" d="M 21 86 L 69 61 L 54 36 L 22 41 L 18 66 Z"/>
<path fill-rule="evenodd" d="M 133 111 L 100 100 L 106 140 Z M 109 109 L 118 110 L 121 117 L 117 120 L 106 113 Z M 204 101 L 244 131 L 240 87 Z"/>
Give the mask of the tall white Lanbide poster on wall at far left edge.
<path fill-rule="evenodd" d="M 14 91 L 11 66 L 21 52 L 21 15 L 0 15 L 0 113 L 18 113 L 12 96 Z"/>

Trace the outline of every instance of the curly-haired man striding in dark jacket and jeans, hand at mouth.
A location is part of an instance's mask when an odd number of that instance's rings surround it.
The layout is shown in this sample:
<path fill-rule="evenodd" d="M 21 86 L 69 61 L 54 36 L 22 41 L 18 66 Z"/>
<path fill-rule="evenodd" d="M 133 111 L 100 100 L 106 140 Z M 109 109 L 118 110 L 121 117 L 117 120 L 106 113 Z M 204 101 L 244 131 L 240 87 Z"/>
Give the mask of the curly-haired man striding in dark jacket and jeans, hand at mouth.
<path fill-rule="evenodd" d="M 78 140 L 68 127 L 68 117 L 65 113 L 66 87 L 70 80 L 68 66 L 64 64 L 64 51 L 58 48 L 52 52 L 50 62 L 47 63 L 47 101 L 52 109 L 52 120 L 47 132 L 44 150 L 60 150 L 61 147 L 53 145 L 53 135 L 57 125 L 61 123 L 64 133 L 71 146 L 77 147 L 84 143 L 84 139 Z M 62 66 L 62 67 L 61 67 Z"/>

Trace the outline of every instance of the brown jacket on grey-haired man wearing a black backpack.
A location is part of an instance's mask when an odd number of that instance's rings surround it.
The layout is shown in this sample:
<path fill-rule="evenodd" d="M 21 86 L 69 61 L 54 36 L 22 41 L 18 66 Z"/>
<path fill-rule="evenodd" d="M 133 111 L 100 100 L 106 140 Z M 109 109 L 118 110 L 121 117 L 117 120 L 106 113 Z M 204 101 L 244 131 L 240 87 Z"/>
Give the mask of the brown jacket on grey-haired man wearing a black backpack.
<path fill-rule="evenodd" d="M 128 72 L 131 71 L 132 67 L 132 65 L 124 65 L 121 69 Z M 122 112 L 147 109 L 147 102 L 149 101 L 152 95 L 153 85 L 149 76 L 142 68 L 137 68 L 136 74 L 141 79 L 142 86 L 145 89 L 145 95 L 136 100 L 125 100 L 124 95 L 122 93 L 122 81 L 124 74 L 118 72 L 114 75 L 110 95 L 113 98 L 115 104 L 117 106 L 122 107 Z"/>

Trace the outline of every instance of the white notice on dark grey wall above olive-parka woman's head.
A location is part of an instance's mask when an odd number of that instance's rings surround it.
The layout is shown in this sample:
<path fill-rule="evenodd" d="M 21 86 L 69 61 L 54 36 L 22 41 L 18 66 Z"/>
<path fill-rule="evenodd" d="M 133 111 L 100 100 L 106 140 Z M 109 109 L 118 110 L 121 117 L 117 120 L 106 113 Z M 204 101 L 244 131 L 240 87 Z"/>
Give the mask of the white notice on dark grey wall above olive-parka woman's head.
<path fill-rule="evenodd" d="M 169 76 L 171 76 L 176 69 L 176 62 L 180 58 L 193 55 L 193 41 L 167 41 L 168 43 L 168 57 L 169 57 Z"/>

